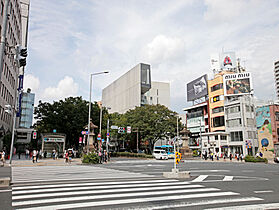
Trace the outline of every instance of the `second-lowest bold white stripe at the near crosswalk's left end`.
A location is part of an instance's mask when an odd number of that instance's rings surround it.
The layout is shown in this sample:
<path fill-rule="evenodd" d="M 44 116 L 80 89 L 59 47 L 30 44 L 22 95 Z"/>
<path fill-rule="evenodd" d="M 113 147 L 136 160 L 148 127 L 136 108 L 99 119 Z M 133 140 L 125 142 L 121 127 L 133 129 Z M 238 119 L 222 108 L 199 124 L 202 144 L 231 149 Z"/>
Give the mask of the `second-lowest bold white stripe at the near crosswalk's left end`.
<path fill-rule="evenodd" d="M 134 190 L 135 191 L 135 190 Z M 214 192 L 220 191 L 217 188 L 198 188 L 198 189 L 187 189 L 187 190 L 171 190 L 171 191 L 152 191 L 152 192 L 136 192 L 136 193 L 117 193 L 117 194 L 105 194 L 105 195 L 94 195 L 94 196 L 78 196 L 78 197 L 67 197 L 67 198 L 47 198 L 42 200 L 27 200 L 27 201 L 18 201 L 13 202 L 13 206 L 21 205 L 34 205 L 34 204 L 43 204 L 43 203 L 54 203 L 54 202 L 66 202 L 66 201 L 84 201 L 84 200 L 96 200 L 96 199 L 105 199 L 105 198 L 126 198 L 133 196 L 153 196 L 153 195 L 166 195 L 172 193 L 193 193 L 193 192 Z M 108 191 L 109 192 L 109 191 Z M 121 191 L 118 191 L 121 192 Z"/>

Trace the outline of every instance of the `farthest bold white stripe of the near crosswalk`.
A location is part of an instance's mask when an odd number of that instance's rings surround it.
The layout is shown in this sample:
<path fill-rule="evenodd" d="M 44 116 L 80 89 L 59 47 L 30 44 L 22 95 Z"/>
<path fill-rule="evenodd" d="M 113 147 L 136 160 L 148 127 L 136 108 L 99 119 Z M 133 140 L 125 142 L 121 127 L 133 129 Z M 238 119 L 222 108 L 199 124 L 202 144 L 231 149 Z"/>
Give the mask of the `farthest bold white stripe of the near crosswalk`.
<path fill-rule="evenodd" d="M 140 181 L 118 181 L 118 182 L 94 182 L 94 183 L 75 183 L 75 184 L 53 184 L 53 185 L 37 185 L 37 186 L 20 186 L 13 187 L 13 190 L 28 190 L 28 189 L 43 189 L 43 188 L 59 188 L 59 187 L 74 187 L 74 186 L 104 186 L 104 185 L 120 185 L 120 184 L 139 184 L 139 183 L 172 183 L 178 182 L 176 179 L 161 179 L 161 180 L 140 180 Z M 184 182 L 186 183 L 186 182 Z"/>

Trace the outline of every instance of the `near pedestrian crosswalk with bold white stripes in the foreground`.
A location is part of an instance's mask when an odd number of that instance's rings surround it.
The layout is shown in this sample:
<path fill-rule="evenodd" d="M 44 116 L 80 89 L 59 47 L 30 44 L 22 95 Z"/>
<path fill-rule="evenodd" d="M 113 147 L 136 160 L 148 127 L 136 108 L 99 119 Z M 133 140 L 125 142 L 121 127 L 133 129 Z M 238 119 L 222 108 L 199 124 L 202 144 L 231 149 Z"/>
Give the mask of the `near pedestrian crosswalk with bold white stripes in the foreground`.
<path fill-rule="evenodd" d="M 189 181 L 152 177 L 18 183 L 12 187 L 14 209 L 190 209 L 262 200 Z"/>

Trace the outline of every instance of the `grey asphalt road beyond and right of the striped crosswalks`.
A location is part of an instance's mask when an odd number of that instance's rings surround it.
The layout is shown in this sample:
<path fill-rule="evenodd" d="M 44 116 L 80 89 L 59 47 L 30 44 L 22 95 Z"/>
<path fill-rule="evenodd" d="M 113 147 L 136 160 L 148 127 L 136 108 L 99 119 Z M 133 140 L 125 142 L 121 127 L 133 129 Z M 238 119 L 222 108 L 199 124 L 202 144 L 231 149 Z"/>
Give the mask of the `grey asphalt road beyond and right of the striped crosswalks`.
<path fill-rule="evenodd" d="M 138 161 L 123 158 L 102 164 L 101 167 L 160 177 L 163 172 L 171 171 L 174 163 L 173 159 Z M 180 171 L 190 171 L 191 180 L 206 177 L 201 183 L 207 187 L 256 196 L 264 199 L 265 203 L 279 201 L 279 164 L 189 160 L 180 163 L 177 168 Z"/>

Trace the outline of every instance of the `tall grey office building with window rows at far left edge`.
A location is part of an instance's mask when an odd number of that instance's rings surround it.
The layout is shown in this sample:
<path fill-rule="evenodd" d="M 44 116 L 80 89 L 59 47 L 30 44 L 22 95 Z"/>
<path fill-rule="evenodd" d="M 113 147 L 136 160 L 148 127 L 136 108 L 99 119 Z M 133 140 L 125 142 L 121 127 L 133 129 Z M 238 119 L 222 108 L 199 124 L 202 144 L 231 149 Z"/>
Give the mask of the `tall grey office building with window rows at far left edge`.
<path fill-rule="evenodd" d="M 0 29 L 3 29 L 4 5 L 5 0 L 1 0 Z M 6 131 L 12 130 L 13 115 L 5 112 L 5 105 L 16 104 L 16 91 L 18 88 L 19 68 L 14 59 L 15 46 L 22 42 L 22 21 L 21 4 L 19 0 L 10 0 L 8 5 L 8 21 L 6 33 L 6 49 L 4 54 L 4 63 L 0 67 L 1 85 L 0 85 L 0 127 Z M 9 46 L 9 47 L 7 47 Z"/>

